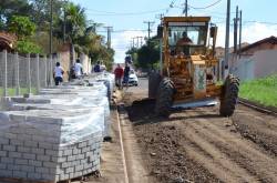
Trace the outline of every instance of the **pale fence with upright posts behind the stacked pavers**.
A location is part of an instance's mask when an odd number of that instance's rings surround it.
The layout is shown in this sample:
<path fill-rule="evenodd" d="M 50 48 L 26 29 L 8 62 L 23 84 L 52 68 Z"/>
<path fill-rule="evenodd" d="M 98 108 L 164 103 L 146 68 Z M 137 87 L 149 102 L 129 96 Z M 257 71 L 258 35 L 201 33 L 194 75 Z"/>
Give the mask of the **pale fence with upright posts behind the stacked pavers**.
<path fill-rule="evenodd" d="M 32 93 L 53 85 L 53 67 L 58 58 L 21 57 L 18 53 L 0 52 L 0 95 Z"/>

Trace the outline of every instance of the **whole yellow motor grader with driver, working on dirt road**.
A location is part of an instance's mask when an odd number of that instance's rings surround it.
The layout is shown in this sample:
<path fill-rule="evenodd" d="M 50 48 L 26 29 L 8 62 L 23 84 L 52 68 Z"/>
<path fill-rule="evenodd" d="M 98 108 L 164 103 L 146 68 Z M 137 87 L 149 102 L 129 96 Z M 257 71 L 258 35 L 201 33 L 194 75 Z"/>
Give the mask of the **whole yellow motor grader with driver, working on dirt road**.
<path fill-rule="evenodd" d="M 211 26 L 208 35 L 209 20 L 209 17 L 163 18 L 157 31 L 163 42 L 163 67 L 160 77 L 150 78 L 150 98 L 156 99 L 158 115 L 168 116 L 173 105 L 216 98 L 220 101 L 220 115 L 234 113 L 239 80 L 228 74 L 222 85 L 216 84 L 217 27 Z"/>

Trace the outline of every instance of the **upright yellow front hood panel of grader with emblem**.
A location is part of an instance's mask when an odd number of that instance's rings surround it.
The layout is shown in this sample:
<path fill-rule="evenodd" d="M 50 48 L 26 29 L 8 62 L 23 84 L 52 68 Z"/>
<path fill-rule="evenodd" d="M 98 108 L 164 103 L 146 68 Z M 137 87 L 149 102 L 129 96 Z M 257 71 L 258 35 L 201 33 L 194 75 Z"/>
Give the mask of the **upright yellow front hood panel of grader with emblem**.
<path fill-rule="evenodd" d="M 195 99 L 202 99 L 206 95 L 206 62 L 201 55 L 191 55 L 193 73 L 193 93 Z"/>

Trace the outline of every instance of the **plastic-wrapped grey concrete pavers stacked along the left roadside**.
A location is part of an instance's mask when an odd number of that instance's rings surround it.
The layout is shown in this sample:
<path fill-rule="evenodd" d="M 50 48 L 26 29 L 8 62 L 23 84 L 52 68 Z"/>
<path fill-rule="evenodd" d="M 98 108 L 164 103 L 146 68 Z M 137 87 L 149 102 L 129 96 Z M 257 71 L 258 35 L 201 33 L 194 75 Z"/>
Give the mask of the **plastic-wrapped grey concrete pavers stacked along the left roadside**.
<path fill-rule="evenodd" d="M 94 83 L 2 99 L 0 177 L 58 182 L 99 170 L 110 128 L 106 91 Z"/>

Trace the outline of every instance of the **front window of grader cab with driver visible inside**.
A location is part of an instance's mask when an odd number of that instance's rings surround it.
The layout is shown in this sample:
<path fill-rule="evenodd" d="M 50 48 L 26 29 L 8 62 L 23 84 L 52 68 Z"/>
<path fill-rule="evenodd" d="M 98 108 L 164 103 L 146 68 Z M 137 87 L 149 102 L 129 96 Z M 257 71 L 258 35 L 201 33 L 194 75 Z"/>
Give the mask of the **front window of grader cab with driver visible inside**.
<path fill-rule="evenodd" d="M 203 53 L 207 39 L 207 26 L 205 22 L 187 23 L 170 22 L 167 28 L 168 47 L 172 54 L 184 50 L 185 54 Z M 183 43 L 181 44 L 183 40 Z"/>

